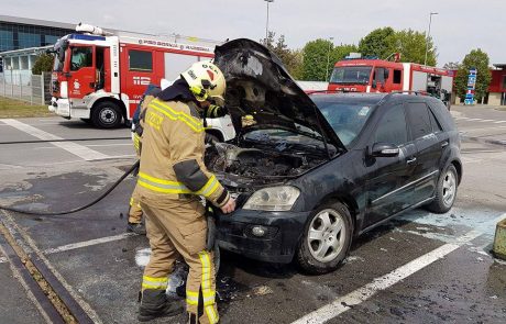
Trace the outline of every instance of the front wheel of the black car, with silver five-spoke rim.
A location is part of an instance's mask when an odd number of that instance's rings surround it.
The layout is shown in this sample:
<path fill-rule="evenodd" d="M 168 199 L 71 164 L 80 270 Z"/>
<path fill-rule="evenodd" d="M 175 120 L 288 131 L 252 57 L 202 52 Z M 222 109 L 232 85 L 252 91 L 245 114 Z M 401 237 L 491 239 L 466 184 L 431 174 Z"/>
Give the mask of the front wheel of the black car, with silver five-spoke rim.
<path fill-rule="evenodd" d="M 297 250 L 298 265 L 314 275 L 336 270 L 350 250 L 352 235 L 352 220 L 344 204 L 320 206 L 306 224 Z"/>

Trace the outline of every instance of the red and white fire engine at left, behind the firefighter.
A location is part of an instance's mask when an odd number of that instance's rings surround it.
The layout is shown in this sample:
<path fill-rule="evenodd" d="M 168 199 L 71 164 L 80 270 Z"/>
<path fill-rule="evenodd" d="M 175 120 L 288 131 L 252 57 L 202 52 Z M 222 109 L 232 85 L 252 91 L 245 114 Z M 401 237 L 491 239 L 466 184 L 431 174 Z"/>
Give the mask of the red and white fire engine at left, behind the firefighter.
<path fill-rule="evenodd" d="M 113 34 L 88 24 L 78 24 L 76 33 L 59 38 L 53 52 L 50 111 L 102 129 L 128 124 L 150 83 L 175 80 L 193 63 L 215 56 L 212 47 L 146 34 Z M 209 123 L 220 139 L 233 137 L 228 134 L 230 119 Z"/>

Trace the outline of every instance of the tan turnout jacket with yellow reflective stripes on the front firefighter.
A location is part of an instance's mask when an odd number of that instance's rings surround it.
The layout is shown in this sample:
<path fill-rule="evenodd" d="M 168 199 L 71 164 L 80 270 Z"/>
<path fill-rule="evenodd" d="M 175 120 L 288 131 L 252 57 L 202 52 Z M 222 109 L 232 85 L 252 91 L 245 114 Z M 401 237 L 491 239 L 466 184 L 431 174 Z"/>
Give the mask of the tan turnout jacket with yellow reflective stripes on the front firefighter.
<path fill-rule="evenodd" d="M 204 165 L 206 132 L 197 105 L 156 98 L 142 120 L 141 197 L 162 202 L 195 194 L 223 206 L 230 194 Z"/>

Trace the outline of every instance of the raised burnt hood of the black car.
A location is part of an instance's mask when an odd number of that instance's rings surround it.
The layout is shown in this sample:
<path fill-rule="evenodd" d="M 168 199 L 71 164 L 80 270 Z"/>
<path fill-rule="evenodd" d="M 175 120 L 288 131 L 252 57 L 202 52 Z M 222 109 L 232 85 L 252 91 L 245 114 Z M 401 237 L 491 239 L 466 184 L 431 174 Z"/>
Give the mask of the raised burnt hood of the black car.
<path fill-rule="evenodd" d="M 215 64 L 227 79 L 226 104 L 238 134 L 273 127 L 298 133 L 298 124 L 345 150 L 317 105 L 265 46 L 245 38 L 230 41 L 216 47 Z"/>

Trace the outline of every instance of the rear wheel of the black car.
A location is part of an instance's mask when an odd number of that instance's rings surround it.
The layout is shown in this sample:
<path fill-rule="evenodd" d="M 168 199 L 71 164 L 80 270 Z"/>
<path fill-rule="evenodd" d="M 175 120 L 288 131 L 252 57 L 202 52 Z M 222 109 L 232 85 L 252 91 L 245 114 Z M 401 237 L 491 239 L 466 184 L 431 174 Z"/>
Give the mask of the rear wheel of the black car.
<path fill-rule="evenodd" d="M 455 201 L 458 183 L 459 174 L 453 165 L 449 165 L 439 177 L 435 200 L 427 205 L 427 209 L 438 214 L 448 212 Z"/>

